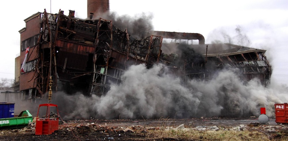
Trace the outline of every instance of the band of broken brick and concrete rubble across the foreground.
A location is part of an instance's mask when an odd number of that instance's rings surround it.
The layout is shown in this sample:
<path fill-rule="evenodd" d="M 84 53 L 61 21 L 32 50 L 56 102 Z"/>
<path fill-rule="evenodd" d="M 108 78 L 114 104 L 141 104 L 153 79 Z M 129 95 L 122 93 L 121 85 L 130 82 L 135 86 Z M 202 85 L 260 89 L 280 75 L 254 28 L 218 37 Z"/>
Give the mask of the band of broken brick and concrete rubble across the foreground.
<path fill-rule="evenodd" d="M 82 123 L 81 123 L 82 122 Z M 90 129 L 90 132 L 101 132 L 101 133 L 106 133 L 108 131 L 112 132 L 147 132 L 147 130 L 183 130 L 183 131 L 189 131 L 189 130 L 198 130 L 198 131 L 218 131 L 218 130 L 224 130 L 224 131 L 245 131 L 247 128 L 249 129 L 258 129 L 258 130 L 263 130 L 264 132 L 277 132 L 279 130 L 285 130 L 288 129 L 287 126 L 272 126 L 272 125 L 259 125 L 256 127 L 250 127 L 250 126 L 245 126 L 243 124 L 236 126 L 236 127 L 217 127 L 217 126 L 196 126 L 194 128 L 185 128 L 184 124 L 179 125 L 178 127 L 173 127 L 173 126 L 166 126 L 166 127 L 151 127 L 151 126 L 142 126 L 142 125 L 132 125 L 132 126 L 109 126 L 107 123 L 104 125 L 100 124 L 95 124 L 94 122 L 92 123 L 85 123 L 85 121 L 73 121 L 73 122 L 68 122 L 67 124 L 61 124 L 59 125 L 59 130 L 65 130 L 67 132 L 71 132 L 77 129 Z M 80 124 L 79 124 L 80 123 Z M 253 124 L 253 123 L 251 123 Z M 255 125 L 258 125 L 255 123 Z M 35 132 L 35 126 L 36 123 L 29 123 L 28 126 L 24 128 L 18 128 L 18 129 L 13 129 L 13 130 L 2 130 L 0 134 L 8 133 L 8 132 Z"/>

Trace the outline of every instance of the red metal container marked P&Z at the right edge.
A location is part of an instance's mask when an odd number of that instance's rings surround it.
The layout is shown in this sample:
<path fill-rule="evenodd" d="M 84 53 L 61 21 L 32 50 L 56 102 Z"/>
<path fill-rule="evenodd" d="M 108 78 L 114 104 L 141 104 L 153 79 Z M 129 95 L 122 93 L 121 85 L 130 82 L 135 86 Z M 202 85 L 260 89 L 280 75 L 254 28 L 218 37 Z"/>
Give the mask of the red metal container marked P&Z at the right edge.
<path fill-rule="evenodd" d="M 275 103 L 275 122 L 277 124 L 288 123 L 288 104 L 287 103 Z"/>

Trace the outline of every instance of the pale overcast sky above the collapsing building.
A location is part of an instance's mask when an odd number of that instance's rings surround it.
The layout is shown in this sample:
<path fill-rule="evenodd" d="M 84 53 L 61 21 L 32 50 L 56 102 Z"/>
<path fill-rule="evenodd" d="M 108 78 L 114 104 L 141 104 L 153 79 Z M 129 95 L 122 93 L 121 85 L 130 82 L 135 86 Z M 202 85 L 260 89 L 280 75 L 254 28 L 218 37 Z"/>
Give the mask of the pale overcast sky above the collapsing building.
<path fill-rule="evenodd" d="M 24 19 L 37 12 L 68 15 L 85 19 L 85 0 L 17 0 L 1 2 L 0 78 L 14 79 L 16 54 L 20 53 L 19 30 Z M 110 0 L 110 11 L 134 16 L 153 15 L 154 30 L 200 33 L 206 44 L 215 40 L 237 44 L 236 28 L 247 36 L 248 47 L 264 49 L 272 65 L 272 82 L 288 84 L 288 1 L 287 0 Z"/>

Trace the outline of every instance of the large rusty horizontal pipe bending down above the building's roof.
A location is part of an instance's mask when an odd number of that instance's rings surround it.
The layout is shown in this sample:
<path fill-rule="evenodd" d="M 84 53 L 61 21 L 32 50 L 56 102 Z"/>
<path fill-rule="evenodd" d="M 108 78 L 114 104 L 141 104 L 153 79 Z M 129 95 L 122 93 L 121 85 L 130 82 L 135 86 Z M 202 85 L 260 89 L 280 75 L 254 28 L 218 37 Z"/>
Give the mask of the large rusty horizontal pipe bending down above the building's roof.
<path fill-rule="evenodd" d="M 150 34 L 168 39 L 199 40 L 199 44 L 205 44 L 204 36 L 199 33 L 151 31 Z"/>

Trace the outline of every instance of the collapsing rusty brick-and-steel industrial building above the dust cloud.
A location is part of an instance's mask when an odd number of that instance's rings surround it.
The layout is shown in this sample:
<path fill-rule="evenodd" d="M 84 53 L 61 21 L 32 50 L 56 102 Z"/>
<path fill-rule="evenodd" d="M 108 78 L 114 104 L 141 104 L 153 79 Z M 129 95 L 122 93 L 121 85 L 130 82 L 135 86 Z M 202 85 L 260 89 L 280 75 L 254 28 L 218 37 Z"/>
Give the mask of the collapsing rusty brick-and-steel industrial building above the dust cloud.
<path fill-rule="evenodd" d="M 105 5 L 109 8 L 109 2 Z M 151 31 L 151 36 L 135 38 L 129 29 L 119 29 L 109 19 L 93 19 L 92 13 L 90 18 L 79 19 L 74 14 L 72 10 L 68 16 L 61 10 L 57 14 L 44 10 L 24 20 L 14 88 L 24 91 L 25 99 L 43 98 L 50 86 L 53 91 L 105 95 L 111 83 L 122 83 L 125 70 L 137 64 L 150 68 L 161 63 L 184 80 L 209 80 L 215 70 L 232 67 L 239 68 L 242 80 L 270 82 L 266 50 L 205 44 L 198 33 Z M 163 38 L 181 42 L 164 43 Z M 199 40 L 199 44 L 188 44 L 189 40 Z M 171 47 L 178 49 L 171 52 Z"/>

